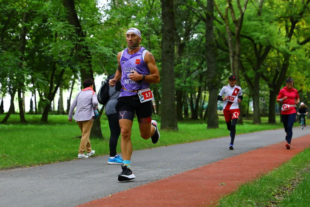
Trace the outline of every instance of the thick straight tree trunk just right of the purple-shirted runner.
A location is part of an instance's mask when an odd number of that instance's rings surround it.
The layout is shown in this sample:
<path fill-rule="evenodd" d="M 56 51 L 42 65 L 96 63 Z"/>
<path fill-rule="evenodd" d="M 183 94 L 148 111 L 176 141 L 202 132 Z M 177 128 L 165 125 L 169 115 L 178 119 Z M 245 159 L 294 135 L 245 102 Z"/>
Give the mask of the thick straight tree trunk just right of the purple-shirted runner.
<path fill-rule="evenodd" d="M 178 130 L 175 106 L 175 14 L 173 0 L 162 2 L 162 102 L 161 129 Z M 172 80 L 172 81 L 171 81 Z"/>

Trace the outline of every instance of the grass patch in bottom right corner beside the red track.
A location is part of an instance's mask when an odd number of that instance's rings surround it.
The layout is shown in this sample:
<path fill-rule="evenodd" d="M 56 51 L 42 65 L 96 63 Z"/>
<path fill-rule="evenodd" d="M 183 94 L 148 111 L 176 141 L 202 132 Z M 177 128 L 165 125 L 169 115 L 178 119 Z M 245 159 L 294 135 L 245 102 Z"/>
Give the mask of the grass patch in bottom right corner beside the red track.
<path fill-rule="evenodd" d="M 296 155 L 278 169 L 248 182 L 229 196 L 219 200 L 219 206 L 298 206 L 310 204 L 310 148 Z"/>

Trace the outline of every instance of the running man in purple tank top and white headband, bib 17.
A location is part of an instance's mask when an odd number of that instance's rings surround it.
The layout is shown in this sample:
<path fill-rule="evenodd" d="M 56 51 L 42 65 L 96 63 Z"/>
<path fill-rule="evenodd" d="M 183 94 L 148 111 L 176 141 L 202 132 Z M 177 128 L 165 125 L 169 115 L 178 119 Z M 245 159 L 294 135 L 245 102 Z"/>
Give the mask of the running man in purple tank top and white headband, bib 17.
<path fill-rule="evenodd" d="M 141 33 L 137 28 L 130 28 L 126 33 L 128 47 L 117 54 L 117 70 L 114 79 L 109 80 L 111 87 L 121 81 L 122 89 L 115 109 L 118 113 L 121 127 L 121 150 L 124 165 L 118 181 L 128 181 L 135 178 L 131 171 L 130 159 L 132 153 L 131 128 L 136 113 L 140 136 L 143 139 L 151 137 L 152 142 L 158 142 L 160 134 L 157 122 L 152 120 L 153 93 L 148 88 L 150 83 L 159 83 L 159 71 L 152 53 L 140 46 Z"/>

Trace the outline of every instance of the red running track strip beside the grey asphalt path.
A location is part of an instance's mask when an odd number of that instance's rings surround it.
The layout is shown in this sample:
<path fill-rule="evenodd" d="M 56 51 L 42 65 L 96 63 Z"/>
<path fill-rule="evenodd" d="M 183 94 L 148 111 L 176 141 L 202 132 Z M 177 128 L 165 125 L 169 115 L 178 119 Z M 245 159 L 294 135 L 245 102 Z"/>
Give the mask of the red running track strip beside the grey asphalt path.
<path fill-rule="evenodd" d="M 262 147 L 226 158 L 162 180 L 121 191 L 79 207 L 101 206 L 210 206 L 237 189 L 238 185 L 256 178 L 290 160 L 310 146 L 310 135 L 295 138 L 291 150 L 286 142 Z M 219 185 L 224 182 L 226 185 Z"/>

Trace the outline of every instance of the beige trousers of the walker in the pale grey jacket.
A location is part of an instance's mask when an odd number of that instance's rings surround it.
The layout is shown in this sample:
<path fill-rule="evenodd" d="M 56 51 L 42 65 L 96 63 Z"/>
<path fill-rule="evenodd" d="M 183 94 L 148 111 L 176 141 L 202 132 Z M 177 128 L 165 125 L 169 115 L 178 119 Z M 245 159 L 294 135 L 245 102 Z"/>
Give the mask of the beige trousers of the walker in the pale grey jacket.
<path fill-rule="evenodd" d="M 93 125 L 93 122 L 94 120 L 77 122 L 82 132 L 82 139 L 81 139 L 80 148 L 78 151 L 79 154 L 84 154 L 85 148 L 86 148 L 87 153 L 91 152 L 91 141 L 89 140 L 89 135 L 91 133 L 91 127 Z"/>

